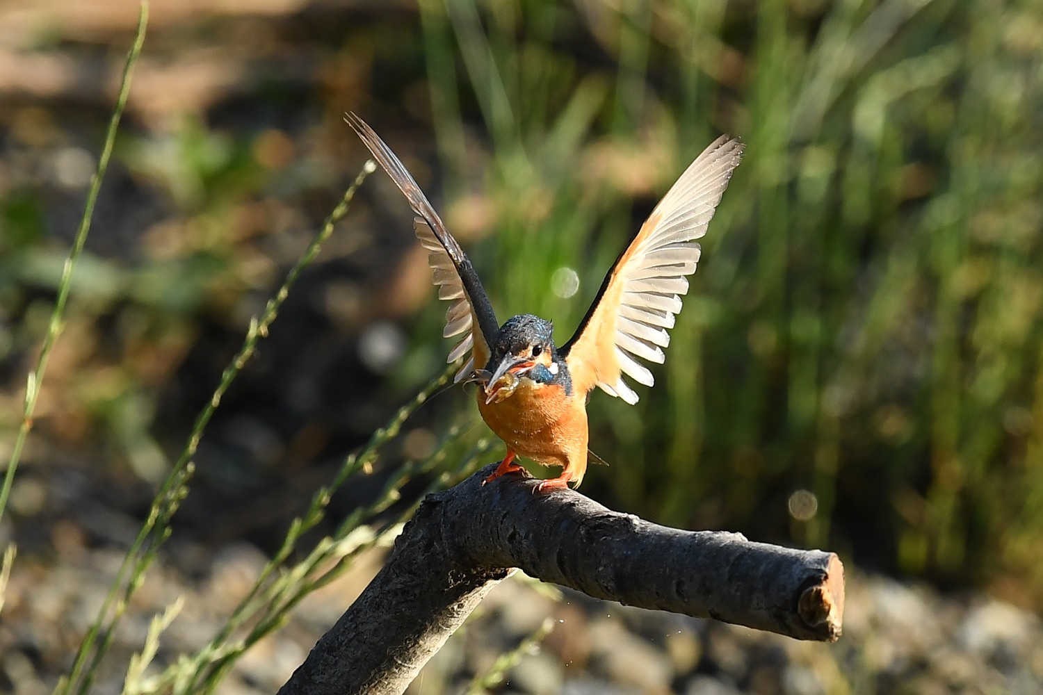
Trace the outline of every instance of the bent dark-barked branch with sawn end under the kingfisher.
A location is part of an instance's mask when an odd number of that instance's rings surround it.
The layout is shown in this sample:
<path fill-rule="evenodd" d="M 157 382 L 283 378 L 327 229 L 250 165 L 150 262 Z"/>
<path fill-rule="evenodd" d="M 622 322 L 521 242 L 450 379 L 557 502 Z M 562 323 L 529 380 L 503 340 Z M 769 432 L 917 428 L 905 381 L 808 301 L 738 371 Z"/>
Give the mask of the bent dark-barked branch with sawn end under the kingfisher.
<path fill-rule="evenodd" d="M 627 605 L 834 641 L 844 568 L 833 553 L 686 531 L 611 512 L 574 491 L 532 494 L 492 467 L 428 496 L 362 595 L 282 695 L 402 693 L 479 601 L 518 567 Z"/>

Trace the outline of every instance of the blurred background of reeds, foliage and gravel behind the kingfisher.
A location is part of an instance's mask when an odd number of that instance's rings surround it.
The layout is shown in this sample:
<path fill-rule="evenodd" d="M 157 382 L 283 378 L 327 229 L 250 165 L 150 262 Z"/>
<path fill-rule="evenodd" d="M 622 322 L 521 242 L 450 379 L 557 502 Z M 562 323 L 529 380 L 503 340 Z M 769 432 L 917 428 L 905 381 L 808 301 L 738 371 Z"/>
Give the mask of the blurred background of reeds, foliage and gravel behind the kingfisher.
<path fill-rule="evenodd" d="M 3 461 L 137 11 L 0 2 Z M 1041 56 L 1043 5 L 1016 0 L 153 2 L 0 528 L 20 549 L 0 690 L 49 692 L 68 667 L 86 587 L 104 586 L 250 317 L 364 163 L 354 110 L 427 191 L 500 318 L 552 318 L 559 344 L 676 176 L 718 134 L 742 138 L 655 388 L 636 406 L 591 398 L 591 449 L 610 466 L 583 492 L 835 550 L 850 572 L 835 647 L 568 594 L 545 606 L 509 582 L 414 692 L 459 692 L 489 659 L 474 650 L 561 611 L 581 627 L 495 688 L 1039 692 Z M 373 175 L 290 295 L 195 457 L 169 592 L 219 615 L 215 577 L 248 575 L 441 371 L 444 306 L 411 217 Z M 460 452 L 487 437 L 461 390 L 337 494 L 333 523 L 454 426 Z M 280 638 L 297 651 L 269 645 L 290 650 L 254 659 L 274 672 L 226 692 L 277 688 L 347 604 L 326 600 L 313 631 Z M 512 618 L 518 604 L 532 615 Z"/>

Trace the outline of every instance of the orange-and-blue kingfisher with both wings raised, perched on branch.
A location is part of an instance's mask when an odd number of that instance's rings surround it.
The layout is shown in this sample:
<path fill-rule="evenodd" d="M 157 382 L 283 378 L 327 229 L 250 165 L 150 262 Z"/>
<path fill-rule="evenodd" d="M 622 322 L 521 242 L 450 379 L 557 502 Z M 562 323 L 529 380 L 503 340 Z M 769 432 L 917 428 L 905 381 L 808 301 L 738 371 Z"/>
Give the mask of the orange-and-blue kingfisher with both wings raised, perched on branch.
<path fill-rule="evenodd" d="M 668 330 L 681 311 L 706 232 L 744 145 L 721 135 L 688 166 L 618 255 L 575 334 L 558 346 L 553 324 L 532 314 L 496 320 L 482 280 L 412 175 L 377 132 L 354 113 L 345 121 L 405 194 L 414 231 L 428 251 L 438 297 L 450 302 L 444 338 L 462 336 L 448 362 L 463 359 L 454 381 L 477 382 L 478 409 L 507 454 L 483 485 L 525 469 L 525 456 L 560 466 L 534 492 L 578 488 L 588 464 L 586 405 L 601 389 L 633 404 L 627 378 L 651 387 L 640 361 L 662 364 Z M 590 454 L 592 455 L 592 454 Z"/>

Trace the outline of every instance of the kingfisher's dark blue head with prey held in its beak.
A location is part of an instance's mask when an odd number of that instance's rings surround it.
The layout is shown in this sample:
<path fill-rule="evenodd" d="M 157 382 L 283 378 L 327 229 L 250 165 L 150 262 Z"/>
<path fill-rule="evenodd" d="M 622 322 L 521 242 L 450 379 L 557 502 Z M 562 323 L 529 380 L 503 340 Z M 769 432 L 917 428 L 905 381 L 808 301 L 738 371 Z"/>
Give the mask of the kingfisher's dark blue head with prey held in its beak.
<path fill-rule="evenodd" d="M 551 333 L 554 325 L 538 316 L 511 317 L 501 327 L 486 367 L 486 403 L 507 398 L 517 388 L 518 379 L 537 366 L 557 371 L 557 348 Z"/>

